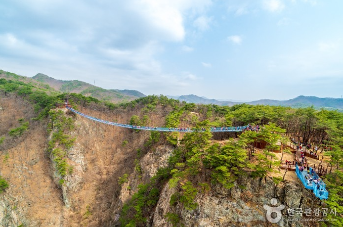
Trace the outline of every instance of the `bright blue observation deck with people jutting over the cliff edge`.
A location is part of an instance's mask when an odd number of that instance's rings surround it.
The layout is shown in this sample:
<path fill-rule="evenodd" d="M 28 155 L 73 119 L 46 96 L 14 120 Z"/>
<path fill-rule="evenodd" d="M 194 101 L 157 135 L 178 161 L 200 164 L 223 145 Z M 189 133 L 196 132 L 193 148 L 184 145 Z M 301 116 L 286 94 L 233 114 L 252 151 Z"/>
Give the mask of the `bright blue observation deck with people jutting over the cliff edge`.
<path fill-rule="evenodd" d="M 310 174 L 312 173 L 313 179 L 319 179 L 319 176 L 316 172 L 312 171 L 312 168 L 309 168 Z M 328 199 L 329 192 L 326 190 L 326 184 L 323 181 L 315 182 L 310 181 L 307 170 L 304 169 L 303 171 L 300 171 L 298 165 L 296 165 L 296 173 L 302 184 L 305 188 L 311 189 L 316 197 L 320 199 Z"/>

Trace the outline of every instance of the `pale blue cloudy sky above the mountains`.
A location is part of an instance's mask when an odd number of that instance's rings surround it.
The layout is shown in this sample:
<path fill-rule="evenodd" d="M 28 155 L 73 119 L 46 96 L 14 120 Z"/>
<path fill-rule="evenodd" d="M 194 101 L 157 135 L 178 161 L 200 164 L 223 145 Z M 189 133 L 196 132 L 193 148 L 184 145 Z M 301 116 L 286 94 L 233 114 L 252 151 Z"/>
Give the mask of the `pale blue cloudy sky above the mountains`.
<path fill-rule="evenodd" d="M 1 0 L 0 69 L 146 95 L 343 95 L 342 0 Z"/>

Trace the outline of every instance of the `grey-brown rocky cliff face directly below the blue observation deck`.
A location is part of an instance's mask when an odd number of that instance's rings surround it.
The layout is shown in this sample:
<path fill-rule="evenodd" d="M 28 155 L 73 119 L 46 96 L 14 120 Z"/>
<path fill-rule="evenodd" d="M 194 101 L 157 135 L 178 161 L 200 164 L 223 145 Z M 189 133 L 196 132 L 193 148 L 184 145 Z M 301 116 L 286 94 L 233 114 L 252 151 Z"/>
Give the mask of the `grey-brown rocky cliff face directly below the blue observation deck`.
<path fill-rule="evenodd" d="M 244 188 L 244 189 L 242 189 Z M 287 214 L 289 208 L 313 208 L 320 205 L 311 192 L 302 187 L 300 182 L 285 182 L 275 185 L 270 178 L 244 178 L 235 182 L 231 189 L 219 185 L 212 185 L 212 190 L 206 194 L 198 194 L 198 207 L 189 211 L 180 204 L 171 206 L 171 195 L 176 191 L 167 184 L 160 196 L 160 200 L 153 214 L 152 226 L 171 227 L 166 214 L 179 215 L 184 226 L 193 227 L 303 227 L 319 226 L 318 223 L 292 222 Z M 270 199 L 276 198 L 278 203 L 285 205 L 282 210 L 282 219 L 277 224 L 271 224 L 266 219 L 266 210 L 263 205 L 270 205 Z M 302 218 L 295 214 L 292 218 Z"/>

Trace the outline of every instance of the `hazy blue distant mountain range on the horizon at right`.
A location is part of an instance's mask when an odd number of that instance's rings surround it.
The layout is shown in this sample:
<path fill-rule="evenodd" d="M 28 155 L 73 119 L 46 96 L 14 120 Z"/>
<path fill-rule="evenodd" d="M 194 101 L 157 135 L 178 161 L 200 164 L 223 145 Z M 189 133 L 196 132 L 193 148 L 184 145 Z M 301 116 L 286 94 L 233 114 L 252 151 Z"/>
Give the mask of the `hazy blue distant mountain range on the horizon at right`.
<path fill-rule="evenodd" d="M 216 99 L 208 99 L 205 97 L 199 97 L 194 94 L 181 95 L 181 96 L 169 96 L 180 101 L 194 102 L 202 104 L 215 104 L 223 106 L 233 106 L 236 104 L 247 103 L 251 105 L 273 105 L 273 106 L 291 106 L 291 107 L 307 107 L 314 106 L 315 108 L 326 108 L 326 109 L 338 109 L 343 111 L 343 98 L 319 98 L 316 96 L 303 96 L 289 99 L 289 100 L 274 100 L 274 99 L 260 99 L 249 102 L 235 102 L 235 101 L 219 101 Z"/>

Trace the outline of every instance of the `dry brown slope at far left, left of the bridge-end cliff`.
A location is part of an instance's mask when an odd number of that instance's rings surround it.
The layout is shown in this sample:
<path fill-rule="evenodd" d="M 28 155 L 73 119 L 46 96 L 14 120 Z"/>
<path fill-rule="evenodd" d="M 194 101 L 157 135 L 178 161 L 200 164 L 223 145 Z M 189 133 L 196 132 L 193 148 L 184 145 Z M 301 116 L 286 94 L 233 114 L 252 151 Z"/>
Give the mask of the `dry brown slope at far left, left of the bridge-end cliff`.
<path fill-rule="evenodd" d="M 66 209 L 48 171 L 46 122 L 30 120 L 36 116 L 33 105 L 17 96 L 1 93 L 0 106 L 0 173 L 10 185 L 0 195 L 0 226 L 61 226 Z M 29 122 L 28 130 L 9 136 L 20 119 Z"/>

